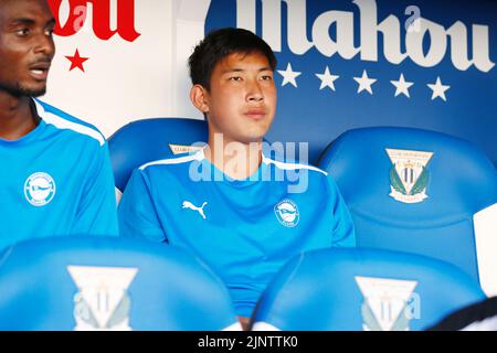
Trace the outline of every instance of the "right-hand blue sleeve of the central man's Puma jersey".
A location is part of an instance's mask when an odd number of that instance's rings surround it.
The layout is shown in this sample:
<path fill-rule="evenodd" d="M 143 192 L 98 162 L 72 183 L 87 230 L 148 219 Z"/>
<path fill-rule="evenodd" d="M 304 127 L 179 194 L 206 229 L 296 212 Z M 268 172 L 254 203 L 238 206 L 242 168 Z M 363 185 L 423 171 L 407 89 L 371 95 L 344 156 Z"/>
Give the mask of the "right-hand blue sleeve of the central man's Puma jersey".
<path fill-rule="evenodd" d="M 334 247 L 355 247 L 356 229 L 349 208 L 340 194 L 340 191 L 331 176 L 327 176 L 332 199 L 332 246 Z"/>

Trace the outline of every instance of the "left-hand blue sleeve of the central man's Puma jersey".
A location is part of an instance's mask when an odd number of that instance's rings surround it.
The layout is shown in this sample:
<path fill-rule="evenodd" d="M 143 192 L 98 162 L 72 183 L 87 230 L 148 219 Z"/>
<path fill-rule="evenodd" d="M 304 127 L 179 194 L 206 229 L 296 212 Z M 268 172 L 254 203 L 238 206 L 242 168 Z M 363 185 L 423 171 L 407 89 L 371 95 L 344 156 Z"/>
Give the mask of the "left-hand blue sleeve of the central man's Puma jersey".
<path fill-rule="evenodd" d="M 118 207 L 119 232 L 124 237 L 148 238 L 167 243 L 150 194 L 147 175 L 136 169 L 125 189 Z"/>

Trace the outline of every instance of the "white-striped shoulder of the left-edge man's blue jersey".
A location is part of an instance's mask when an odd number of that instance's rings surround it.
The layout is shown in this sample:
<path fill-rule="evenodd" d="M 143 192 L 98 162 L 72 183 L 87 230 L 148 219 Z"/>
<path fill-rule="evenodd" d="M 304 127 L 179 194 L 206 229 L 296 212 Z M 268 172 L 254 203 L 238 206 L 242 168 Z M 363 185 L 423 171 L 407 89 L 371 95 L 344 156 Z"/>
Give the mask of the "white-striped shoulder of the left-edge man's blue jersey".
<path fill-rule="evenodd" d="M 82 139 L 97 141 L 101 147 L 105 145 L 104 135 L 95 126 L 42 100 L 34 99 L 34 104 L 38 115 L 45 124 L 61 131 L 70 131 Z"/>

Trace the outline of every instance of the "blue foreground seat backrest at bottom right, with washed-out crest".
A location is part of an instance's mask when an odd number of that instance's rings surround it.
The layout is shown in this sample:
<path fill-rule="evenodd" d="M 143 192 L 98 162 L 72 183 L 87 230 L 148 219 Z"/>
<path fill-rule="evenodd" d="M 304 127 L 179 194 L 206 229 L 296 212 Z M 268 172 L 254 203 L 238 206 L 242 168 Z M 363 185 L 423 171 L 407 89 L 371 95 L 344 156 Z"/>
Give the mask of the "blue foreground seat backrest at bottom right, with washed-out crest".
<path fill-rule="evenodd" d="M 289 260 L 263 292 L 252 329 L 417 331 L 485 298 L 455 266 L 373 249 L 322 249 Z"/>

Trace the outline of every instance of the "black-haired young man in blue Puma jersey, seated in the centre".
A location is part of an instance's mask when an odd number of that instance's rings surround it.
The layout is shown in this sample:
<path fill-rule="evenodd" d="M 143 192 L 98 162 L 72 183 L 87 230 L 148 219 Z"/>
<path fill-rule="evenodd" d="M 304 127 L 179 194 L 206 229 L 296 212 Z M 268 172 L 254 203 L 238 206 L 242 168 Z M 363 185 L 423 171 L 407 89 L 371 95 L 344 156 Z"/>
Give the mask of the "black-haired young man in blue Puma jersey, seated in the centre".
<path fill-rule="evenodd" d="M 137 169 L 119 205 L 124 236 L 191 250 L 228 286 L 245 324 L 290 257 L 356 245 L 334 181 L 263 152 L 276 109 L 275 67 L 273 51 L 252 32 L 209 34 L 190 56 L 190 98 L 207 117 L 207 147 Z M 307 182 L 292 191 L 296 171 Z"/>

